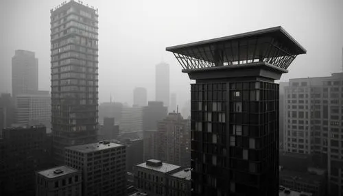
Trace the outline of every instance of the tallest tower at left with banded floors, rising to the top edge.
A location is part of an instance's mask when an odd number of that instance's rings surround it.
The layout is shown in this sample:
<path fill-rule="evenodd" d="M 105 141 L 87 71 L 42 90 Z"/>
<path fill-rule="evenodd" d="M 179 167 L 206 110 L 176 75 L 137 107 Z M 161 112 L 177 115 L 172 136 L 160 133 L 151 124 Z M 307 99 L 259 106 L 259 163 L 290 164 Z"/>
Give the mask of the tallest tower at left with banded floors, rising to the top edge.
<path fill-rule="evenodd" d="M 51 125 L 56 164 L 63 163 L 64 147 L 97 140 L 97 17 L 97 10 L 76 1 L 51 10 Z"/>

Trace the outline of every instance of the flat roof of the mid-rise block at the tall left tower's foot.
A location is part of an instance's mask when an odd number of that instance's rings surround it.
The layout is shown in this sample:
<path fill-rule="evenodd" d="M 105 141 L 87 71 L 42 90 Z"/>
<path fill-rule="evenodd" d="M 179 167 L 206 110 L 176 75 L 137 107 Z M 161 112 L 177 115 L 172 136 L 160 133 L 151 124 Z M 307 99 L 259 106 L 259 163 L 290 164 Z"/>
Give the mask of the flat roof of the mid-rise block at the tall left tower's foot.
<path fill-rule="evenodd" d="M 117 143 L 91 143 L 86 145 L 76 145 L 71 147 L 66 147 L 65 149 L 70 149 L 72 151 L 78 151 L 81 153 L 89 153 L 94 151 L 102 151 L 104 149 L 111 149 L 115 147 L 123 147 L 124 145 L 117 144 Z"/>

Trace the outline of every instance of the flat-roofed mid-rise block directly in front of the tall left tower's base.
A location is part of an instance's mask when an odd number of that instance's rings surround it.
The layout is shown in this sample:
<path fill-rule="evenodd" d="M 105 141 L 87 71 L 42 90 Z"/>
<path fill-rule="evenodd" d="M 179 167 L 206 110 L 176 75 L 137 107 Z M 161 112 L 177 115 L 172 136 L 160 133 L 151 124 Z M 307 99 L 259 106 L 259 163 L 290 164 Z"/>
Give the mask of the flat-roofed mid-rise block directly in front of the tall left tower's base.
<path fill-rule="evenodd" d="M 107 141 L 66 147 L 65 162 L 82 171 L 82 195 L 126 195 L 126 147 Z"/>

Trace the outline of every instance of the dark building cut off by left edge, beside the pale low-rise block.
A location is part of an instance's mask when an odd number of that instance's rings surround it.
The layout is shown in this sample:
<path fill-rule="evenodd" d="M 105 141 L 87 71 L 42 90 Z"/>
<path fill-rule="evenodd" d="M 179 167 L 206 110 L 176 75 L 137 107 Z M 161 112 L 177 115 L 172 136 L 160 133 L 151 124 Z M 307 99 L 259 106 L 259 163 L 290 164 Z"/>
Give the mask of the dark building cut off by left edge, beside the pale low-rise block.
<path fill-rule="evenodd" d="M 10 127 L 15 121 L 14 99 L 8 93 L 1 93 L 0 97 L 0 135 L 3 127 Z"/>

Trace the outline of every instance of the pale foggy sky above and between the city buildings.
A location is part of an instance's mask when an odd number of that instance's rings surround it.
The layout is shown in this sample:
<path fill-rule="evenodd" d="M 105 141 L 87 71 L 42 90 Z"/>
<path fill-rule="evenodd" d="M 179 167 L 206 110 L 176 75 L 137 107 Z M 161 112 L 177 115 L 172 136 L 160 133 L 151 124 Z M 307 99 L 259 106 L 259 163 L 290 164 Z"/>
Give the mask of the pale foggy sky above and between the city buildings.
<path fill-rule="evenodd" d="M 76 0 L 77 1 L 77 0 Z M 190 99 L 189 77 L 165 47 L 281 25 L 307 49 L 281 81 L 342 71 L 343 1 L 88 0 L 99 9 L 99 103 L 132 104 L 134 87 L 155 97 L 155 65 L 170 65 L 170 92 Z M 34 51 L 39 88 L 50 90 L 50 9 L 59 0 L 0 1 L 0 92 L 12 93 L 16 49 Z"/>

